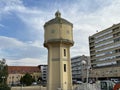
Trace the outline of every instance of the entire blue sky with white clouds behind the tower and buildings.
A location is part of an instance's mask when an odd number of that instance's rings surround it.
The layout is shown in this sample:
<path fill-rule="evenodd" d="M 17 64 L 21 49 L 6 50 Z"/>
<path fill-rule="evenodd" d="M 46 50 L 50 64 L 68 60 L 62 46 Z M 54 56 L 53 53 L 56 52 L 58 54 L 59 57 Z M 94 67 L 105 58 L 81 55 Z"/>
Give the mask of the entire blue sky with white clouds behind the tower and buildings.
<path fill-rule="evenodd" d="M 47 64 L 43 26 L 57 10 L 73 23 L 71 57 L 89 56 L 88 37 L 120 23 L 120 0 L 0 0 L 0 60 L 9 66 Z"/>

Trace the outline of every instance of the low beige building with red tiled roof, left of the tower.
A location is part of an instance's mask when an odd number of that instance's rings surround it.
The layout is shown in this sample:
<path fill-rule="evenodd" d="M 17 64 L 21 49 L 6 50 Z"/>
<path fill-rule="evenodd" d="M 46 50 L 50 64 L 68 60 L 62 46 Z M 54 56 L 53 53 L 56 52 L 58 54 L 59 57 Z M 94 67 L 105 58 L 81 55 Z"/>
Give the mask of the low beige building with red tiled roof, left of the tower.
<path fill-rule="evenodd" d="M 8 66 L 8 85 L 20 84 L 20 79 L 26 73 L 31 74 L 31 76 L 37 81 L 40 75 L 40 69 L 37 66 Z"/>

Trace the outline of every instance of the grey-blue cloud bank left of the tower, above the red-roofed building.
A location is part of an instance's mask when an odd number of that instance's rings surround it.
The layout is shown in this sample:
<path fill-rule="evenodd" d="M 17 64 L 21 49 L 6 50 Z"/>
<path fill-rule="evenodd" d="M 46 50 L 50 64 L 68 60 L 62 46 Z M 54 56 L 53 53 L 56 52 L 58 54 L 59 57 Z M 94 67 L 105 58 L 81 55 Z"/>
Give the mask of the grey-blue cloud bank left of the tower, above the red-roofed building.
<path fill-rule="evenodd" d="M 22 59 L 22 58 L 39 58 L 42 60 L 46 54 L 46 49 L 39 41 L 22 42 L 14 38 L 0 36 L 1 58 Z"/>

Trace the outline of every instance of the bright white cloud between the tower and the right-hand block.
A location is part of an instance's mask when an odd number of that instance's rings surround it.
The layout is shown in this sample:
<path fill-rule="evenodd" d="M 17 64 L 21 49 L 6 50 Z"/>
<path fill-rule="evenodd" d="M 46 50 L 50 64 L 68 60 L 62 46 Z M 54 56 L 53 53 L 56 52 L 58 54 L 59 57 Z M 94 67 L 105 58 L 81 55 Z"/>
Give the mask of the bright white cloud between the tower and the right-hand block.
<path fill-rule="evenodd" d="M 102 2 L 104 4 L 104 2 Z M 81 12 L 79 5 L 67 11 L 66 18 L 73 22 L 74 25 L 74 41 L 71 56 L 89 55 L 88 37 L 96 33 L 96 31 L 104 30 L 113 24 L 120 22 L 120 1 L 115 0 L 107 6 L 101 7 L 94 12 Z M 70 13 L 75 11 L 74 13 Z M 70 14 L 69 14 L 70 13 Z"/>

